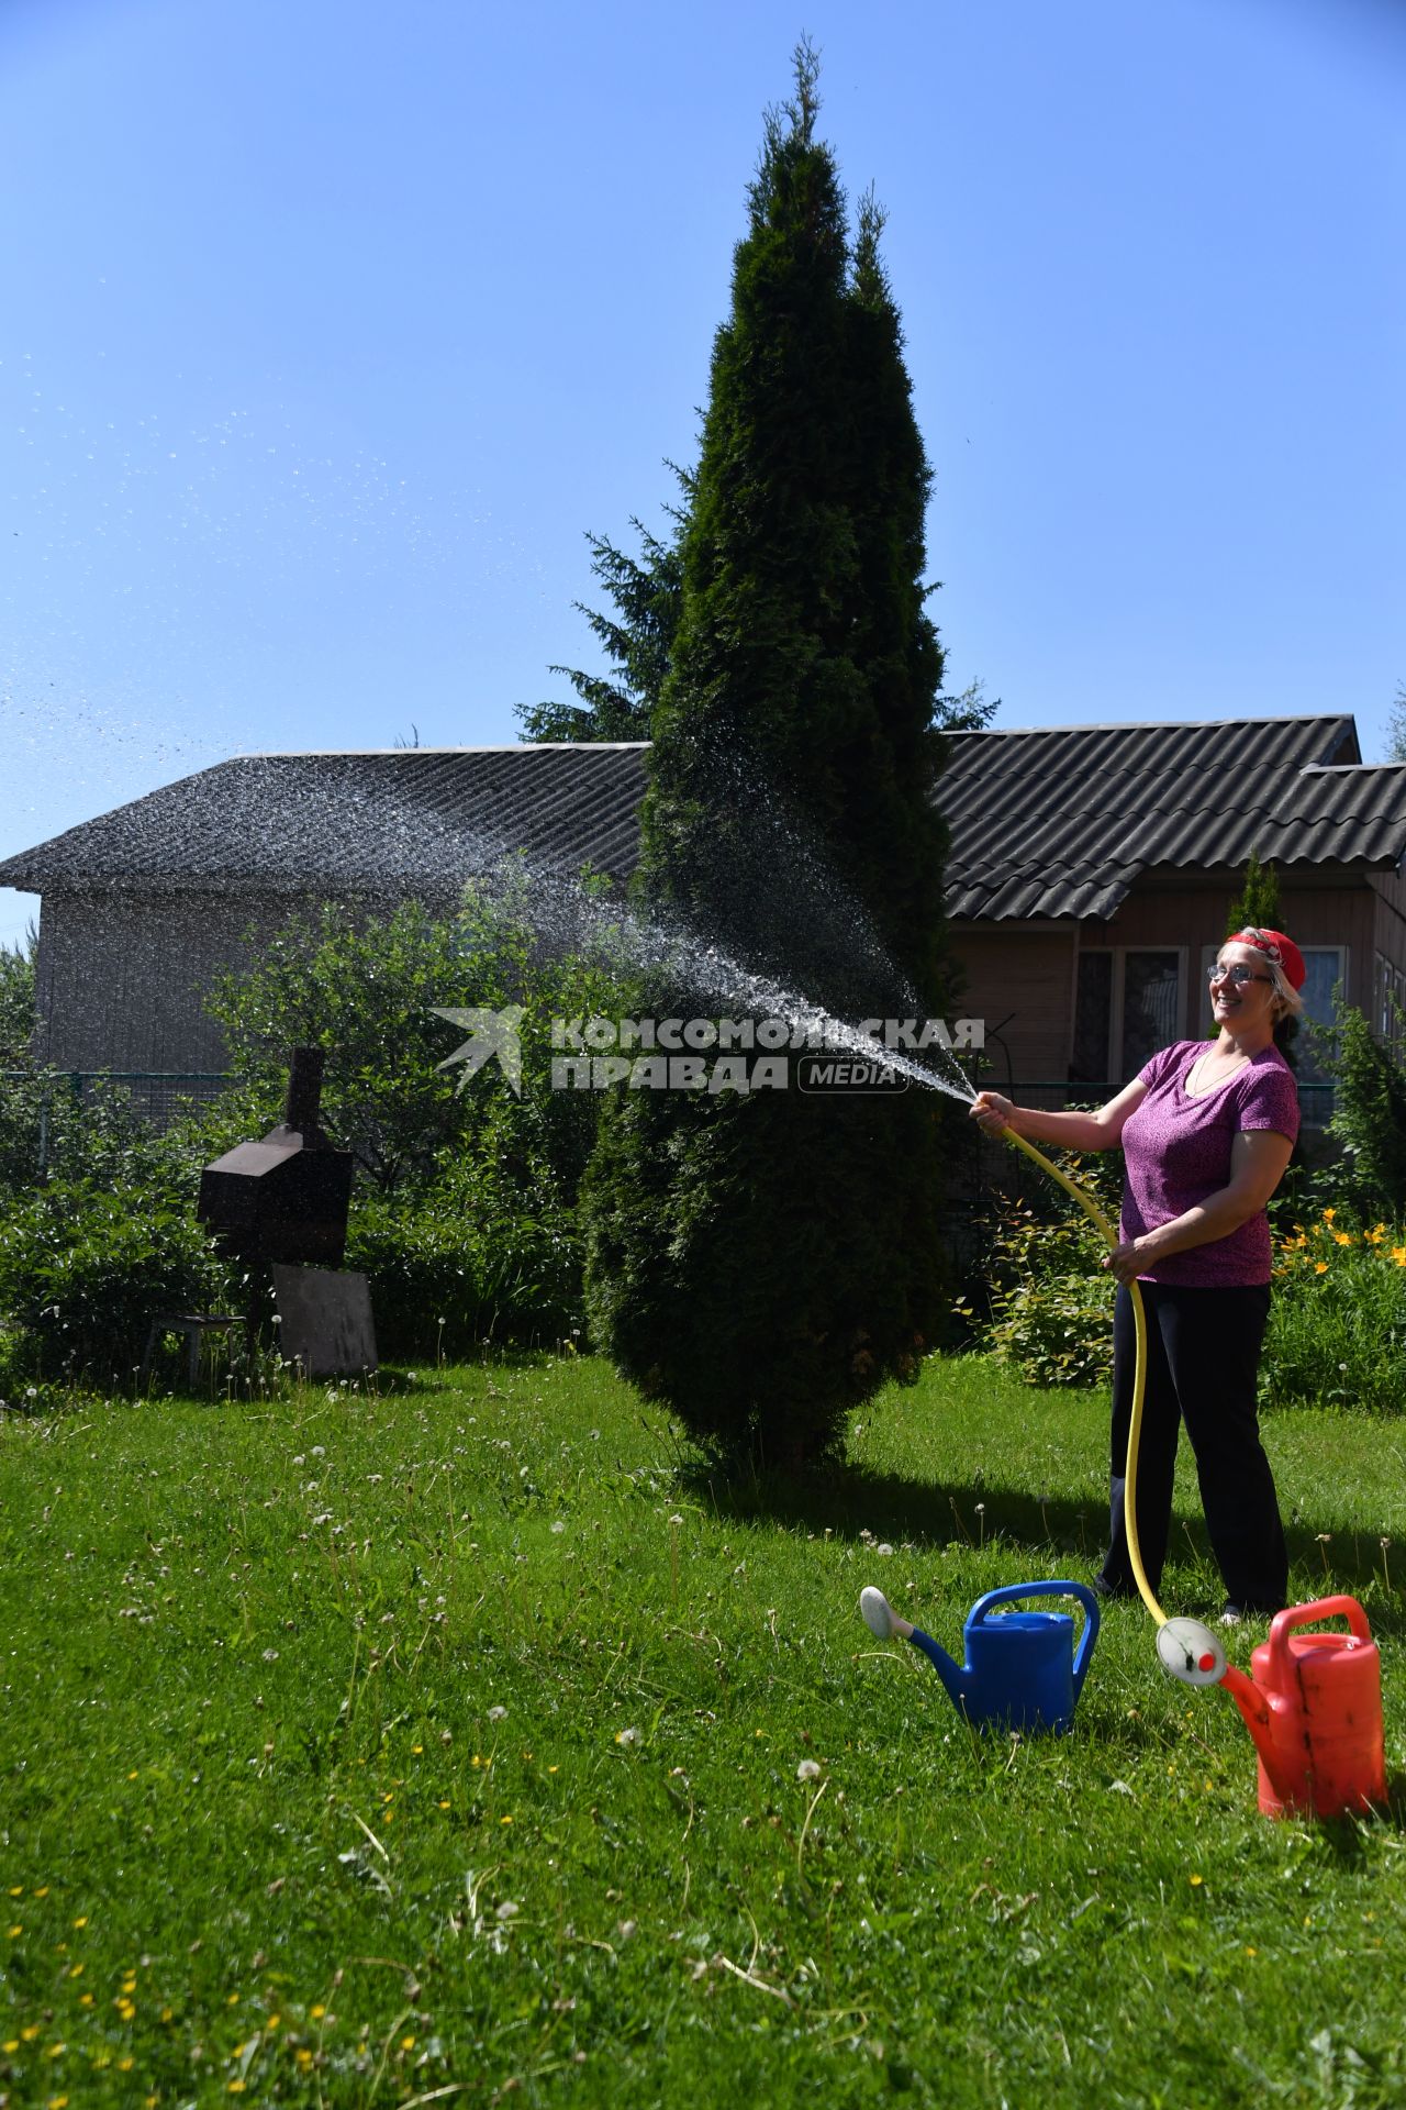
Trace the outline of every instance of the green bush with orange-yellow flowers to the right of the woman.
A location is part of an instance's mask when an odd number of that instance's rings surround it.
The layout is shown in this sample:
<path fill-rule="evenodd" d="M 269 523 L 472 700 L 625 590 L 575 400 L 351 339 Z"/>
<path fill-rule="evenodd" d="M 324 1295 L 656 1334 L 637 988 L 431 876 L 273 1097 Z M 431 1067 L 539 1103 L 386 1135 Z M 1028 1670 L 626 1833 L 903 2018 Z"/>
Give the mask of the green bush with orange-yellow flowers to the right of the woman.
<path fill-rule="evenodd" d="M 1280 1241 L 1261 1401 L 1406 1407 L 1406 1232 L 1326 1209 Z"/>

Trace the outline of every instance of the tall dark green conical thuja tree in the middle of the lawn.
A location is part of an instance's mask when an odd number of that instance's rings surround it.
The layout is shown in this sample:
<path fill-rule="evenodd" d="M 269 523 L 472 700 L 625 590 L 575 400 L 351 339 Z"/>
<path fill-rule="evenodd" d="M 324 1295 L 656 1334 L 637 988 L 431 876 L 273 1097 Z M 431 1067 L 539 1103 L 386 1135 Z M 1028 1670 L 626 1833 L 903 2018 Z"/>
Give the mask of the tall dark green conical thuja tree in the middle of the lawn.
<path fill-rule="evenodd" d="M 860 213 L 852 249 L 816 108 L 801 46 L 712 352 L 639 886 L 843 1017 L 913 1015 L 936 1011 L 942 966 L 930 473 L 879 217 Z M 778 802 L 837 874 L 826 916 L 795 914 Z M 850 945 L 856 912 L 894 966 Z M 687 968 L 651 998 L 700 1009 Z M 833 1452 L 847 1409 L 911 1374 L 938 1323 L 940 1108 L 923 1091 L 803 1095 L 795 1078 L 624 1091 L 586 1194 L 597 1338 L 723 1450 Z"/>

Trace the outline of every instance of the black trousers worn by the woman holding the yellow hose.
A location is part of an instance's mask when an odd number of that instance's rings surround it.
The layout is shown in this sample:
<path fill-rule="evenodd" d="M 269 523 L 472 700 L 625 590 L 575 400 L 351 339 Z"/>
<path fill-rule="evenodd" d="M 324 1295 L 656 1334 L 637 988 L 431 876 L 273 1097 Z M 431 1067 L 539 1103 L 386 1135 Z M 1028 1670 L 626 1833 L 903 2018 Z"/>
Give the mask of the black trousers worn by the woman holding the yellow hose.
<path fill-rule="evenodd" d="M 1288 1551 L 1254 1409 L 1269 1285 L 1170 1289 L 1143 1283 L 1143 1302 L 1147 1401 L 1138 1445 L 1138 1547 L 1147 1580 L 1157 1591 L 1172 1523 L 1176 1437 L 1185 1420 L 1225 1595 L 1244 1610 L 1277 1612 L 1288 1591 Z M 1124 1530 L 1134 1363 L 1132 1298 L 1119 1289 L 1113 1312 L 1111 1545 L 1100 1574 L 1113 1591 L 1136 1589 Z"/>

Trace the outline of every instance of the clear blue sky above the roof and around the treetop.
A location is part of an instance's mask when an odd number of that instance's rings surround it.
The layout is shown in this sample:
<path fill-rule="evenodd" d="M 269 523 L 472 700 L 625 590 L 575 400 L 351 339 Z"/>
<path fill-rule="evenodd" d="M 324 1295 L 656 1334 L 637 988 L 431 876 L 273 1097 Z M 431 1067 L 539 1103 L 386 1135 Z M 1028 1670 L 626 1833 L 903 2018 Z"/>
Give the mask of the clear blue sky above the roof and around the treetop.
<path fill-rule="evenodd" d="M 590 665 L 584 534 L 694 456 L 801 30 L 890 213 L 949 686 L 1381 753 L 1395 0 L 4 0 L 2 855 L 238 751 L 508 743 Z"/>

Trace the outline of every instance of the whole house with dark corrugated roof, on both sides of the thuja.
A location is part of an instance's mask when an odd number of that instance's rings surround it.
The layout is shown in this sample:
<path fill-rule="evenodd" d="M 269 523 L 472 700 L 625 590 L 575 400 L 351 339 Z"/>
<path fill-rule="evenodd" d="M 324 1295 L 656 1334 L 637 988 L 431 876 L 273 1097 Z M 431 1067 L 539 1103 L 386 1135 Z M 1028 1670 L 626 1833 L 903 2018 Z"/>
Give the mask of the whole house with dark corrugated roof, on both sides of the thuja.
<path fill-rule="evenodd" d="M 1280 876 L 1309 1015 L 1406 994 L 1406 764 L 1349 715 L 946 734 L 936 802 L 961 1009 L 993 1080 L 1096 1099 L 1208 1025 L 1206 964 L 1254 850 Z M 245 755 L 0 865 L 42 895 L 40 1053 L 213 1072 L 200 992 L 299 905 L 451 901 L 504 850 L 628 876 L 647 745 Z M 1320 1072 L 1301 1057 L 1305 1114 Z M 1322 1104 L 1322 1101 L 1320 1101 Z"/>

